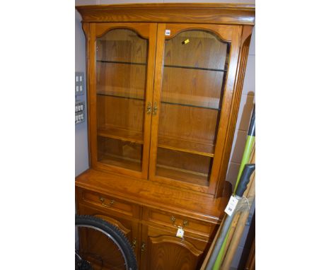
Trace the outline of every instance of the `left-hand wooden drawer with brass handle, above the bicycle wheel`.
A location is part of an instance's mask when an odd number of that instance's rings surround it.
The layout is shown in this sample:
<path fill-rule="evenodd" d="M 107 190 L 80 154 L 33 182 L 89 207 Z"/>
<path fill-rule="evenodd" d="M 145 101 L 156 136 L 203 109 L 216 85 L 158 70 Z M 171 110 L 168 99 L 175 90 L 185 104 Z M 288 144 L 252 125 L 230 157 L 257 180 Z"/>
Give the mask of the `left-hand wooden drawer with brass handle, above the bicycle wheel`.
<path fill-rule="evenodd" d="M 79 192 L 79 199 L 81 203 L 93 204 L 93 206 L 98 206 L 103 211 L 110 213 L 115 211 L 126 216 L 139 218 L 139 206 L 113 196 L 105 196 L 97 192 L 82 190 Z"/>

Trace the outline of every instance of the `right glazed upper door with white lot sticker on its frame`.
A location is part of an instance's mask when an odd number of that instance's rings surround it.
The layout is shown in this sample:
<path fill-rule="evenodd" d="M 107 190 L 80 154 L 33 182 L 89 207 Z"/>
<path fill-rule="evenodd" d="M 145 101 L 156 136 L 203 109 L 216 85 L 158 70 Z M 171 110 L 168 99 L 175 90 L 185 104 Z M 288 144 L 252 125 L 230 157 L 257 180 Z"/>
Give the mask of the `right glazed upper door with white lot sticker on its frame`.
<path fill-rule="evenodd" d="M 215 194 L 241 26 L 159 24 L 151 180 Z"/>

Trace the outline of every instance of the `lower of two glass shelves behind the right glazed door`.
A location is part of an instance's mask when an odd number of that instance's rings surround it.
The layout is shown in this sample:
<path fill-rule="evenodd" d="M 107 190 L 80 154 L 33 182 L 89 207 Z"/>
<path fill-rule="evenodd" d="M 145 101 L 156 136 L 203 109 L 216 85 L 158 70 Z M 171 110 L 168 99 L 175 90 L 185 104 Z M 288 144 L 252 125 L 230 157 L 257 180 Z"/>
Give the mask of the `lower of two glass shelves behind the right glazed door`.
<path fill-rule="evenodd" d="M 162 93 L 161 102 L 183 105 L 190 107 L 201 107 L 204 109 L 221 110 L 219 107 L 219 98 L 209 98 L 201 95 L 183 95 L 180 93 Z"/>

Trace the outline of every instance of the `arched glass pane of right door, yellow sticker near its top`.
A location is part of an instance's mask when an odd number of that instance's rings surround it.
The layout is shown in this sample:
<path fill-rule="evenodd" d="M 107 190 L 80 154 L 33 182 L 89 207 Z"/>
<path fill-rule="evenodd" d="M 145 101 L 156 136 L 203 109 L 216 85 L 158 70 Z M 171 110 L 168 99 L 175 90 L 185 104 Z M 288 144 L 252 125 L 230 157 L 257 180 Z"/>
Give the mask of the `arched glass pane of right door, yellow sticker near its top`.
<path fill-rule="evenodd" d="M 229 48 L 204 30 L 165 41 L 156 175 L 208 186 Z"/>

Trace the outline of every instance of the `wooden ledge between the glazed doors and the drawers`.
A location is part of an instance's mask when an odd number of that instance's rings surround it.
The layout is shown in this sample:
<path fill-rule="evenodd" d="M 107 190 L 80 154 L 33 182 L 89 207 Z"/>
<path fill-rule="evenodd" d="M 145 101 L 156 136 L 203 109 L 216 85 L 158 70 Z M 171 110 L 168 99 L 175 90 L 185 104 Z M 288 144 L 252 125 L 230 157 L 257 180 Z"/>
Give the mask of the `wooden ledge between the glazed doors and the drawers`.
<path fill-rule="evenodd" d="M 211 198 L 202 194 L 165 187 L 147 180 L 87 170 L 76 177 L 76 187 L 131 201 L 142 206 L 185 213 L 194 218 L 217 222 L 223 216 L 228 198 Z"/>

